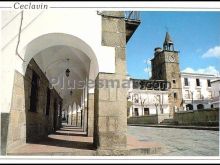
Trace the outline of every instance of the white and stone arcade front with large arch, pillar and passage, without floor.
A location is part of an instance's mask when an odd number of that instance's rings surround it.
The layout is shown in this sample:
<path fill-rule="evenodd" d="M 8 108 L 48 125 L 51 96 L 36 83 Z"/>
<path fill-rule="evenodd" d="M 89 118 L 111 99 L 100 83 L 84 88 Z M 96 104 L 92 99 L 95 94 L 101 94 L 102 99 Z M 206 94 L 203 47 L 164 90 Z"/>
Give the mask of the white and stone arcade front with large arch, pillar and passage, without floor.
<path fill-rule="evenodd" d="M 66 19 L 66 13 L 72 14 L 74 21 Z M 21 15 L 24 18 L 11 69 L 15 81 L 8 151 L 54 134 L 65 113 L 66 126 L 94 135 L 98 150 L 127 147 L 126 89 L 121 86 L 126 79 L 126 27 L 121 17 L 124 12 L 112 12 L 116 18 L 110 13 L 45 12 L 33 21 L 28 20 L 28 12 Z M 120 29 L 113 28 L 115 25 Z M 14 55 L 14 45 L 7 48 L 7 54 Z M 107 85 L 99 87 L 96 82 L 103 79 Z M 120 82 L 119 87 L 109 85 L 113 79 Z M 85 83 L 89 80 L 96 83 L 92 88 Z"/>

